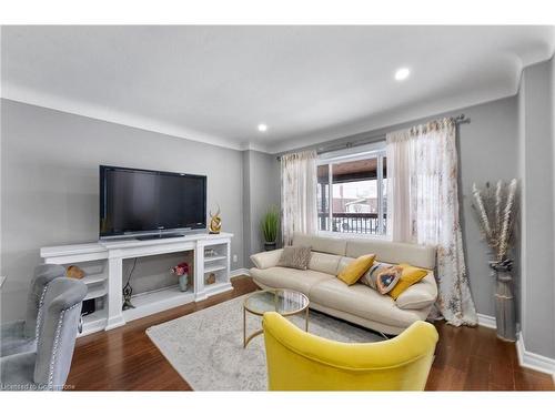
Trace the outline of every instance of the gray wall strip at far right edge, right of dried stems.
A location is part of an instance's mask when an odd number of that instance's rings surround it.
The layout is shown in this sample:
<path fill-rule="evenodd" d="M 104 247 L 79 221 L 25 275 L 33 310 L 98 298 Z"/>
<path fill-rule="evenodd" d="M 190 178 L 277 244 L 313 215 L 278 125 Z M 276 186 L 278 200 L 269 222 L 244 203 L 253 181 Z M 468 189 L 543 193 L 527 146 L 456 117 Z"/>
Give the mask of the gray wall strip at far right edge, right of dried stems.
<path fill-rule="evenodd" d="M 522 333 L 526 351 L 555 358 L 554 63 L 524 69 L 519 91 Z"/>

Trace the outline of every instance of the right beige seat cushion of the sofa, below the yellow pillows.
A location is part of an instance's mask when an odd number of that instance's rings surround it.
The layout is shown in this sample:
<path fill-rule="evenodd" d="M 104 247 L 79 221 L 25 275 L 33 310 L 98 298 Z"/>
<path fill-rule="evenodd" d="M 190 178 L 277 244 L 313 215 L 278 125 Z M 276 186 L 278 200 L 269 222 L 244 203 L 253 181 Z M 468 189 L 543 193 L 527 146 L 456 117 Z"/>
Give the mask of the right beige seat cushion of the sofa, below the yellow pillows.
<path fill-rule="evenodd" d="M 391 326 L 407 327 L 420 318 L 413 311 L 398 308 L 391 296 L 359 283 L 347 286 L 337 278 L 314 285 L 309 297 L 319 305 Z"/>

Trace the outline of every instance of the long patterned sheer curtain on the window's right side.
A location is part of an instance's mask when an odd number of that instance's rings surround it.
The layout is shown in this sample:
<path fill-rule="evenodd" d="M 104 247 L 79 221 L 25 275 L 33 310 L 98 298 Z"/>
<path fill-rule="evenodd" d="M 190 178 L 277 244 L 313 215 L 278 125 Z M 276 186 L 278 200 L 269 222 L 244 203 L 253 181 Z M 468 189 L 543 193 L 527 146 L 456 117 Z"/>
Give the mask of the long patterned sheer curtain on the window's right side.
<path fill-rule="evenodd" d="M 394 241 L 437 247 L 437 310 L 476 325 L 458 220 L 455 122 L 443 119 L 386 135 L 387 230 Z"/>

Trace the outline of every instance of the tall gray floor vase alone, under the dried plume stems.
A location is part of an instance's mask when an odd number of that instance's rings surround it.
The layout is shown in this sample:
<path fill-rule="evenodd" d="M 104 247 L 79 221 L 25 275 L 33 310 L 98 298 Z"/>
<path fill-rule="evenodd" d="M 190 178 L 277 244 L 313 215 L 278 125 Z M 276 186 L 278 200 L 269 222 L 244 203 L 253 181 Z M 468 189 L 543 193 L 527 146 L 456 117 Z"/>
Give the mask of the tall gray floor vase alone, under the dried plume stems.
<path fill-rule="evenodd" d="M 495 319 L 497 337 L 503 341 L 516 341 L 515 301 L 513 296 L 511 272 L 497 271 L 495 291 Z"/>

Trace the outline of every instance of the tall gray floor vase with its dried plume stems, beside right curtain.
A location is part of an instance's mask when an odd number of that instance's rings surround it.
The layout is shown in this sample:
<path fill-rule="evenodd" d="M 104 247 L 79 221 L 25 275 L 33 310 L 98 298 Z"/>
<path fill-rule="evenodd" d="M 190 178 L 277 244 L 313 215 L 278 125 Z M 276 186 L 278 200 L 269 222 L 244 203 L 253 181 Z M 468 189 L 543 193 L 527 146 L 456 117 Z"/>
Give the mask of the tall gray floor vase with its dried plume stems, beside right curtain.
<path fill-rule="evenodd" d="M 472 193 L 480 229 L 490 247 L 490 267 L 496 277 L 495 319 L 497 337 L 516 341 L 515 305 L 513 297 L 513 260 L 509 257 L 513 245 L 513 226 L 516 215 L 517 181 L 508 185 L 498 181 L 495 190 L 486 183 L 481 190 L 473 184 Z"/>

